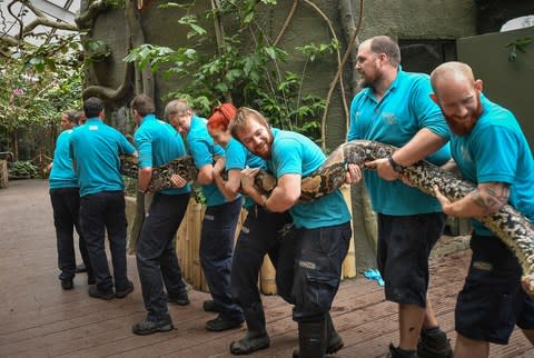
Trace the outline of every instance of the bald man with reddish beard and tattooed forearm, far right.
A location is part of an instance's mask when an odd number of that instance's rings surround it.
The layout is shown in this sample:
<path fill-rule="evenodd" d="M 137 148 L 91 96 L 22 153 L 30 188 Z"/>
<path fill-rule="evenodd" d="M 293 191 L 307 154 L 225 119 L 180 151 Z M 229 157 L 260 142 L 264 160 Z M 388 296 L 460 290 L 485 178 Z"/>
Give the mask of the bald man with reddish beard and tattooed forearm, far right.
<path fill-rule="evenodd" d="M 512 251 L 476 218 L 512 205 L 534 219 L 534 160 L 517 120 L 482 93 L 482 80 L 462 62 L 446 62 L 431 76 L 431 97 L 451 128 L 451 152 L 463 179 L 477 185 L 451 202 L 436 187 L 443 211 L 473 218 L 473 257 L 456 302 L 455 358 L 488 357 L 490 342 L 506 345 L 517 325 L 534 344 L 534 301 L 522 290 Z"/>

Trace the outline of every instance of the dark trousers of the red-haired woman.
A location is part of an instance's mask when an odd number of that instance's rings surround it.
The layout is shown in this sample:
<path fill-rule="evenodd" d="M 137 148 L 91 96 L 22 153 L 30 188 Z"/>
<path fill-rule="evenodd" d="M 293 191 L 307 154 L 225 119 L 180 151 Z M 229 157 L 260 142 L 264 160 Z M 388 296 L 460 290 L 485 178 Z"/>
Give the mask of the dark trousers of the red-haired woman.
<path fill-rule="evenodd" d="M 258 274 L 266 253 L 277 269 L 277 277 L 278 274 L 281 276 L 287 272 L 278 270 L 277 266 L 281 240 L 286 240 L 285 237 L 283 238 L 283 229 L 291 221 L 288 212 L 270 212 L 257 205 L 248 211 L 234 249 L 230 276 L 231 297 L 243 308 L 261 301 L 258 290 Z M 293 277 L 290 281 L 293 282 Z M 278 289 L 278 294 L 290 299 L 290 290 L 284 295 L 286 286 L 283 285 Z"/>

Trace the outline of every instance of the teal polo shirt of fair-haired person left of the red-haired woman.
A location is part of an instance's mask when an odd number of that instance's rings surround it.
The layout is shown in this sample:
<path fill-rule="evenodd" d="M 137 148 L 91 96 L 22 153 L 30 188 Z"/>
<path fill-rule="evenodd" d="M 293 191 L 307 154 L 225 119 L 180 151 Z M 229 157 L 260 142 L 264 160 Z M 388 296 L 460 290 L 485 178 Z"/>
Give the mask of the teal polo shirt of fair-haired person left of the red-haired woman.
<path fill-rule="evenodd" d="M 197 169 L 214 163 L 214 156 L 225 156 L 225 150 L 214 142 L 206 127 L 207 120 L 197 116 L 192 116 L 191 126 L 186 137 L 186 145 L 189 153 L 195 161 Z M 206 197 L 208 207 L 225 203 L 227 200 L 222 192 L 219 191 L 215 182 L 202 186 L 202 192 Z"/>

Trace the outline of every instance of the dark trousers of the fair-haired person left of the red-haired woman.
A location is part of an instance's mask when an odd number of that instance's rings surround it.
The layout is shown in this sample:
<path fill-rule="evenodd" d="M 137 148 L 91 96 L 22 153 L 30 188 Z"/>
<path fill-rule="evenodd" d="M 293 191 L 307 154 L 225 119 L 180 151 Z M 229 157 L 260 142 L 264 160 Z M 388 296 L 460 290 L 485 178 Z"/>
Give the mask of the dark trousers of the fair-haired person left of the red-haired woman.
<path fill-rule="evenodd" d="M 230 266 L 241 199 L 206 209 L 200 233 L 200 263 L 209 292 L 225 319 L 243 321 L 230 294 Z"/>

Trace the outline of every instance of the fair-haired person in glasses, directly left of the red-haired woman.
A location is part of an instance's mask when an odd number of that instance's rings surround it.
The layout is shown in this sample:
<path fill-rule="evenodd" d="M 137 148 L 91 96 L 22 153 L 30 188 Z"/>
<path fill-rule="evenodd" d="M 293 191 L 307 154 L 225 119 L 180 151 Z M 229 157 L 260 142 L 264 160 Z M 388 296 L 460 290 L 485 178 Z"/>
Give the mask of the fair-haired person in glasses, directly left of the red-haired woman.
<path fill-rule="evenodd" d="M 200 233 L 200 263 L 208 282 L 212 301 L 205 301 L 204 309 L 218 311 L 216 319 L 206 324 L 206 329 L 222 331 L 238 328 L 244 321 L 243 312 L 230 294 L 230 266 L 237 219 L 241 212 L 241 197 L 227 200 L 214 182 L 214 156 L 224 156 L 224 149 L 214 142 L 206 127 L 206 119 L 197 117 L 184 99 L 167 105 L 165 117 L 184 137 L 189 153 L 198 169 L 197 182 L 206 198 L 206 213 Z M 185 179 L 175 175 L 176 187 Z"/>

